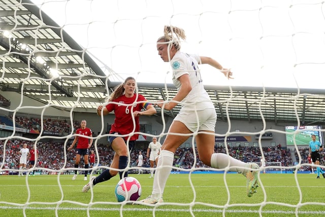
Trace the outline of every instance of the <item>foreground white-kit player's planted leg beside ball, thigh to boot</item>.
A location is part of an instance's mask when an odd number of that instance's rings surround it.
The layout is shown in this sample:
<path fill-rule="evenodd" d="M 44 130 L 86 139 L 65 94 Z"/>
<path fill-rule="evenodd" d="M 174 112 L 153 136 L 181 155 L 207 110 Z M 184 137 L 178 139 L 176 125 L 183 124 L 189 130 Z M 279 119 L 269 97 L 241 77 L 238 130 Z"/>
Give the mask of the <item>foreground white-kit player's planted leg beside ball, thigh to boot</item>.
<path fill-rule="evenodd" d="M 191 133 L 184 125 L 184 123 L 175 120 L 172 122 L 169 132 L 185 135 Z M 158 165 L 156 167 L 156 173 L 153 179 L 152 194 L 143 200 L 144 203 L 153 204 L 157 202 L 163 202 L 163 193 L 166 182 L 172 171 L 174 153 L 176 149 L 189 138 L 187 135 L 167 135 L 159 154 Z"/>

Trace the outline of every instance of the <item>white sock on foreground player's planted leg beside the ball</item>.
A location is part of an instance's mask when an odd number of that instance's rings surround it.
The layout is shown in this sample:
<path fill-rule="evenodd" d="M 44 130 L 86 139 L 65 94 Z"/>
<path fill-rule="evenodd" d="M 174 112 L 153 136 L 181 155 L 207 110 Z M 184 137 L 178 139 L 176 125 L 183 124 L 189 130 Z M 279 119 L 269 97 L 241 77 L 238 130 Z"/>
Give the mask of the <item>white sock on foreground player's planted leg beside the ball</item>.
<path fill-rule="evenodd" d="M 158 158 L 158 165 L 153 179 L 152 194 L 153 197 L 162 197 L 167 179 L 172 171 L 174 153 L 168 150 L 161 150 Z M 155 199 L 157 199 L 155 198 Z"/>

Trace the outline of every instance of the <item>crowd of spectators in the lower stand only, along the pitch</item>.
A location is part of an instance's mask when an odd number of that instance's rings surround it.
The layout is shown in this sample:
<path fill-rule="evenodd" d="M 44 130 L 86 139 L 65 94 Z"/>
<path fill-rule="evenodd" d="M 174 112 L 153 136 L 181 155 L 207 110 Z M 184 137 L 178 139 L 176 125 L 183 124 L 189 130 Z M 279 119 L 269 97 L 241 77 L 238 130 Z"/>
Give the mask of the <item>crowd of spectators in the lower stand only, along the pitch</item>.
<path fill-rule="evenodd" d="M 21 141 L 21 140 L 8 140 L 6 143 L 4 141 L 0 141 L 0 165 L 4 160 L 3 168 L 7 169 L 18 169 L 19 150 L 22 147 L 23 143 L 27 143 L 27 147 L 29 149 L 33 148 L 34 143 L 30 141 Z M 64 142 L 38 142 L 37 149 L 39 150 L 39 159 L 37 161 L 38 170 L 50 172 L 67 172 L 72 171 L 74 168 L 74 160 L 76 153 L 74 151 L 66 151 L 64 152 L 64 147 L 68 147 L 69 144 L 64 144 Z M 99 159 L 96 158 L 96 163 L 99 163 L 98 166 L 107 166 L 111 164 L 111 161 L 114 156 L 114 151 L 108 145 L 105 144 L 97 144 L 96 145 Z M 95 150 L 94 147 L 91 148 Z M 146 150 L 141 150 L 143 156 L 146 156 Z M 215 146 L 215 152 L 226 153 L 226 149 L 223 146 Z M 244 162 L 260 162 L 261 161 L 261 151 L 259 147 L 228 147 L 228 152 L 230 156 L 244 161 Z M 95 150 L 96 153 L 96 150 Z M 139 149 L 134 149 L 131 154 L 131 167 L 136 167 L 136 161 L 138 159 Z M 199 159 L 199 154 L 197 148 L 195 148 L 196 153 L 196 165 L 194 168 L 207 168 L 201 160 Z M 263 148 L 264 157 L 266 162 L 281 162 L 282 166 L 291 166 L 292 160 L 290 157 L 290 152 L 278 148 L 278 147 L 264 147 Z M 308 154 L 305 149 L 301 150 L 301 156 L 303 159 L 303 163 L 307 162 Z M 66 156 L 66 158 L 65 158 Z M 193 168 L 194 163 L 194 152 L 192 147 L 184 148 L 179 147 L 175 153 L 174 158 L 174 167 L 179 167 L 183 169 L 191 169 Z M 83 161 L 82 161 L 83 162 Z M 83 168 L 83 163 L 81 162 L 80 167 Z M 149 159 L 144 158 L 143 167 L 148 168 L 149 172 Z M 67 169 L 69 168 L 69 169 Z M 136 170 L 135 170 L 136 171 Z M 131 171 L 132 173 L 132 171 Z"/>

